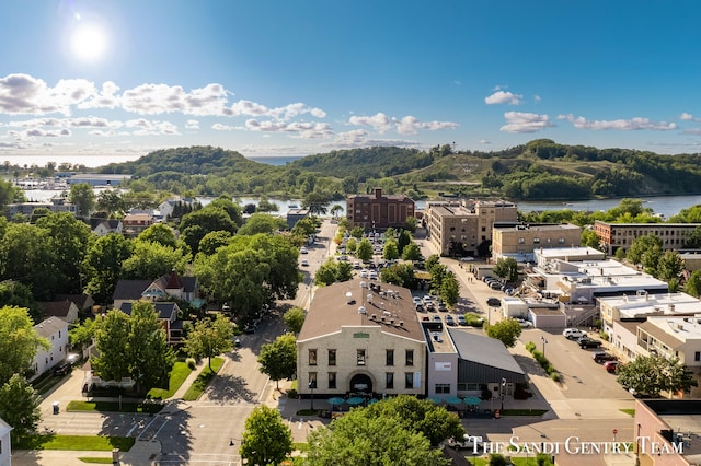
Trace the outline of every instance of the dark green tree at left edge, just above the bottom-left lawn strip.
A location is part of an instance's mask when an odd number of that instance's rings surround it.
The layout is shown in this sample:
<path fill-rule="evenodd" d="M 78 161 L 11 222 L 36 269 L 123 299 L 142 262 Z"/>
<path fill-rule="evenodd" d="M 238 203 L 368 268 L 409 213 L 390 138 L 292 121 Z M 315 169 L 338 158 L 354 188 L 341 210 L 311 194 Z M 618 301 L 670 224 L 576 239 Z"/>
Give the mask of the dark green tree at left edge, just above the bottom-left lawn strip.
<path fill-rule="evenodd" d="M 13 440 L 36 432 L 42 420 L 41 403 L 42 396 L 20 374 L 0 386 L 0 418 L 12 427 Z"/>

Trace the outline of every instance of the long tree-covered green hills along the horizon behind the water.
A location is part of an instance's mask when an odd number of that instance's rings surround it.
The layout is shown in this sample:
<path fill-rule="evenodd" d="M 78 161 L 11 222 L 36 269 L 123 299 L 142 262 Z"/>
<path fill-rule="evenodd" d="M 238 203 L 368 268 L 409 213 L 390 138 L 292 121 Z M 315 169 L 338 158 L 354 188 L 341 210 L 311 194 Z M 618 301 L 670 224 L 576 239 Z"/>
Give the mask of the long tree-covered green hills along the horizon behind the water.
<path fill-rule="evenodd" d="M 139 188 L 194 195 L 342 198 L 381 187 L 415 199 L 438 193 L 464 197 L 586 199 L 701 193 L 701 155 L 660 155 L 538 139 L 503 151 L 424 152 L 374 147 L 308 155 L 285 166 L 253 162 L 212 147 L 152 152 L 101 173 L 134 175 Z M 146 186 L 145 186 L 146 185 Z"/>

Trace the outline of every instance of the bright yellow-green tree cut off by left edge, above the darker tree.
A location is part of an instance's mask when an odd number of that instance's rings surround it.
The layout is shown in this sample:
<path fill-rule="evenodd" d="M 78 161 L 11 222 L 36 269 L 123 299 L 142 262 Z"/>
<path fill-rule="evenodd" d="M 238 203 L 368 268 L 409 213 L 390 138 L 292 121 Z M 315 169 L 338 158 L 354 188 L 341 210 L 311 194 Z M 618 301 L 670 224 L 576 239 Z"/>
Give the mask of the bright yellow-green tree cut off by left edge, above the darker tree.
<path fill-rule="evenodd" d="M 0 308 L 0 385 L 13 374 L 25 374 L 34 362 L 37 349 L 49 349 L 48 340 L 34 329 L 26 308 Z"/>

